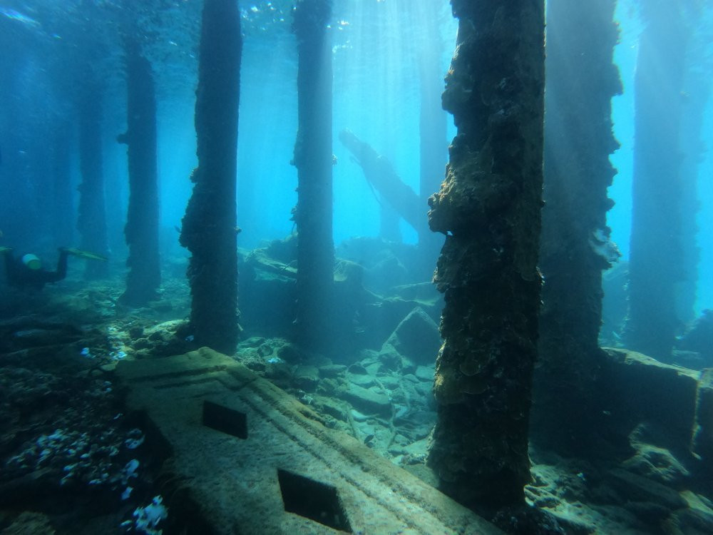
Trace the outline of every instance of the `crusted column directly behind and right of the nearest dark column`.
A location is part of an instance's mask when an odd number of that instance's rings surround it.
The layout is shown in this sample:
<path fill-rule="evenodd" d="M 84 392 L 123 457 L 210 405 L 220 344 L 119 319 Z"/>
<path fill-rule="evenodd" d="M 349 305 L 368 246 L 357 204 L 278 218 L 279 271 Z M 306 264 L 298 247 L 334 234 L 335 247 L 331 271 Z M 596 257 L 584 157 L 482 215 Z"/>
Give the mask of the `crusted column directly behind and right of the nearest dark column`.
<path fill-rule="evenodd" d="M 612 61 L 615 7 L 615 0 L 550 0 L 547 9 L 545 285 L 532 428 L 533 439 L 578 452 L 596 427 L 588 400 L 602 362 L 602 270 L 618 255 L 606 221 L 616 173 L 609 156 L 619 146 L 611 100 L 622 89 Z"/>

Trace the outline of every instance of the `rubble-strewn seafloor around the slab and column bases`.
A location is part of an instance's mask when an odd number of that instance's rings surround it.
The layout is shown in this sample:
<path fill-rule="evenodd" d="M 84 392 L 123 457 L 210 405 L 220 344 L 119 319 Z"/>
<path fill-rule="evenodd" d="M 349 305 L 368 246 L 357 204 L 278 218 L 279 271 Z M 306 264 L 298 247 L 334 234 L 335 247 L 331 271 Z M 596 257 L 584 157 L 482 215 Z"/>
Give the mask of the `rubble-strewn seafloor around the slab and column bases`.
<path fill-rule="evenodd" d="M 262 266 L 253 265 L 253 280 L 275 285 L 279 277 L 289 279 L 289 263 L 266 256 L 252 255 Z M 390 262 L 381 267 L 393 275 Z M 42 292 L 1 288 L 1 534 L 181 532 L 171 524 L 170 508 L 163 524 L 141 524 L 156 512 L 150 504 L 166 484 L 165 459 L 146 439 L 145 420 L 125 409 L 114 370 L 121 360 L 198 349 L 186 320 L 184 263 L 169 263 L 174 276 L 165 279 L 157 300 L 139 309 L 120 305 L 120 277 L 86 283 L 74 272 Z M 344 355 L 329 359 L 282 337 L 246 331 L 235 359 L 321 414 L 332 429 L 435 485 L 426 457 L 436 421 L 431 384 L 440 298 L 427 284 L 386 284 L 369 295 L 371 305 L 395 318 L 394 325 L 386 322 L 391 332 L 380 347 L 347 345 Z M 355 330 L 369 328 L 362 320 Z M 434 358 L 424 358 L 424 348 Z M 559 523 L 543 533 L 713 533 L 710 488 L 650 436 L 645 423 L 636 426 L 626 459 L 563 458 L 532 449 L 528 501 Z"/>

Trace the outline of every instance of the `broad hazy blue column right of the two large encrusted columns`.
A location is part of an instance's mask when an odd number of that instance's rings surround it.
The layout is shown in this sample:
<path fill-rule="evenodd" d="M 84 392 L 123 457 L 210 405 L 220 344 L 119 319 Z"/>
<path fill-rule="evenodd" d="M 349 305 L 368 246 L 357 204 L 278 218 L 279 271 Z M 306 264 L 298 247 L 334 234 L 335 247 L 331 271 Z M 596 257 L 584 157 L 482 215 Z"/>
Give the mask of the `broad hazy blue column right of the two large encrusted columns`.
<path fill-rule="evenodd" d="M 679 133 L 687 29 L 678 2 L 642 3 L 635 79 L 634 176 L 627 347 L 670 358 L 680 321 L 682 156 Z"/>

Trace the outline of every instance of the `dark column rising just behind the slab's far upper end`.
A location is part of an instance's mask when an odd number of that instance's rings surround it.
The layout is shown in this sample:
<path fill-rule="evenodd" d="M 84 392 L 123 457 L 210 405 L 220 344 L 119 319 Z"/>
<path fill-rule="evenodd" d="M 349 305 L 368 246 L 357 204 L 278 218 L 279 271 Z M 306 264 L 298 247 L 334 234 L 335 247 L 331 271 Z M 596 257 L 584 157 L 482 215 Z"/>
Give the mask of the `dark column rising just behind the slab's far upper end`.
<path fill-rule="evenodd" d="M 200 34 L 195 133 L 198 167 L 180 243 L 191 252 L 190 325 L 195 341 L 228 355 L 240 332 L 235 208 L 240 99 L 240 9 L 236 0 L 205 0 Z"/>

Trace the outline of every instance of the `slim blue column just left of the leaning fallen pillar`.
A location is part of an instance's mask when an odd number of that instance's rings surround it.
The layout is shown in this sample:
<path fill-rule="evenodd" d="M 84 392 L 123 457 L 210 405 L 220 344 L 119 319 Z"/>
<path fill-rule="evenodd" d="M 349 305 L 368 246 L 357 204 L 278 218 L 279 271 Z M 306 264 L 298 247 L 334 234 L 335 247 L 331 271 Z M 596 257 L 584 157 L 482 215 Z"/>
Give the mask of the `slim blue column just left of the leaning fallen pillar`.
<path fill-rule="evenodd" d="M 331 0 L 300 0 L 292 28 L 297 35 L 297 338 L 327 349 L 332 317 L 332 46 L 327 24 Z"/>

